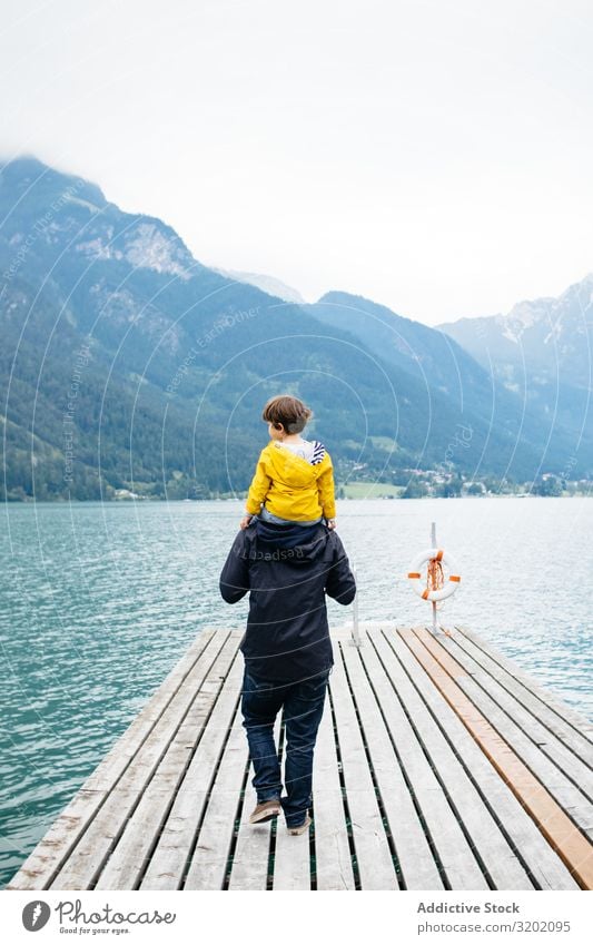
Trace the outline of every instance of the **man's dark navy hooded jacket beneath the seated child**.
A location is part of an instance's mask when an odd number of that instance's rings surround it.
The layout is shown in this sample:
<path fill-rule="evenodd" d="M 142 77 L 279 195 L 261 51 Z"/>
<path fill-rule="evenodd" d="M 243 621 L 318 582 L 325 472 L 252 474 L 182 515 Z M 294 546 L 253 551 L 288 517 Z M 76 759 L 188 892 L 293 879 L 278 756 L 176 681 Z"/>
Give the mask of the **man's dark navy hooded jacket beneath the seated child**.
<path fill-rule="evenodd" d="M 347 604 L 356 593 L 335 531 L 253 520 L 235 539 L 220 574 L 227 603 L 247 591 L 249 617 L 240 649 L 248 672 L 297 682 L 333 666 L 325 595 Z"/>

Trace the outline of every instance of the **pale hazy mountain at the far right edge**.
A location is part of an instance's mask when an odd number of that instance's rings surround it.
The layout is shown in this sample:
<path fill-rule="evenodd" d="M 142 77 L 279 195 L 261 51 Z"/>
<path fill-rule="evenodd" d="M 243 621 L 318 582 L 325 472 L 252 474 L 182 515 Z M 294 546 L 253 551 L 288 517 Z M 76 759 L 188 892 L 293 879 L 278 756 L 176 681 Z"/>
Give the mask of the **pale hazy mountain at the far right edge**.
<path fill-rule="evenodd" d="M 593 274 L 557 298 L 524 301 L 506 315 L 441 326 L 550 429 L 569 437 L 565 467 L 582 466 L 592 439 Z M 585 463 L 589 462 L 585 459 Z"/>

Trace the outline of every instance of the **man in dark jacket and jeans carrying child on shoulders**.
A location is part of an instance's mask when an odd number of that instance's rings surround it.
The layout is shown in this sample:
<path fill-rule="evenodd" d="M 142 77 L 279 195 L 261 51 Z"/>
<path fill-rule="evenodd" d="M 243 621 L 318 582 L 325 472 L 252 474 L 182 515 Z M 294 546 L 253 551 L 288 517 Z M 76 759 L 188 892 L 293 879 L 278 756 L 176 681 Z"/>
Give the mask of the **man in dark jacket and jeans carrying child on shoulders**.
<path fill-rule="evenodd" d="M 220 575 L 227 603 L 247 591 L 241 712 L 257 791 L 249 821 L 263 824 L 284 810 L 289 833 L 304 834 L 310 825 L 313 752 L 334 663 L 325 595 L 350 603 L 354 577 L 342 541 L 326 525 L 278 525 L 256 518 L 235 539 Z M 274 742 L 281 709 L 284 797 Z"/>

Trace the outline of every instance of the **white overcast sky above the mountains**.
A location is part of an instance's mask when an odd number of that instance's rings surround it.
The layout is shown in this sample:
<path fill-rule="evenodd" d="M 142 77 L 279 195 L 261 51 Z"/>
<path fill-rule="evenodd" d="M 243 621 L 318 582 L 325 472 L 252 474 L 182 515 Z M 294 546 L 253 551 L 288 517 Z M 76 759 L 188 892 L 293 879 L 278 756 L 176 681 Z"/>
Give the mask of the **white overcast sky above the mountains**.
<path fill-rule="evenodd" d="M 0 155 L 437 324 L 593 269 L 590 0 L 0 0 Z"/>

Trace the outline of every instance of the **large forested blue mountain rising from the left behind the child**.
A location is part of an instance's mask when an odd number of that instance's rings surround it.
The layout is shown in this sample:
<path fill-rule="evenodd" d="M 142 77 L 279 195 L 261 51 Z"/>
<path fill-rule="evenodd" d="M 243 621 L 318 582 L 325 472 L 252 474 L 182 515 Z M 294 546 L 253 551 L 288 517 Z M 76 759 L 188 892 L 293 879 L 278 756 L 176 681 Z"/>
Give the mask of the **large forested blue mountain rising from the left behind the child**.
<path fill-rule="evenodd" d="M 435 466 L 527 479 L 546 455 L 517 435 L 516 395 L 493 422 L 492 377 L 442 333 L 409 323 L 412 354 L 392 351 L 376 319 L 346 318 L 350 297 L 295 305 L 228 278 L 162 220 L 34 157 L 0 173 L 0 274 L 11 499 L 244 490 L 261 405 L 283 391 L 314 406 L 338 481 Z"/>

